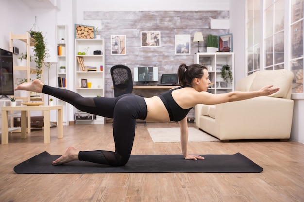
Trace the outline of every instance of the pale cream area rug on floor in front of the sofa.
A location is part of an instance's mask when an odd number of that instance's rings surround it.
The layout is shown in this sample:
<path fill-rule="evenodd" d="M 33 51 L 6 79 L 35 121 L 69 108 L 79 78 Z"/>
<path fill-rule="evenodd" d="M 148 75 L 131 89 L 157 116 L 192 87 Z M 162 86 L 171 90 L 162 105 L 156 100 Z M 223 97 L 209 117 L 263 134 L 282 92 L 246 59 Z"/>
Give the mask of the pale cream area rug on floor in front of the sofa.
<path fill-rule="evenodd" d="M 180 128 L 147 128 L 153 142 L 180 142 Z M 189 127 L 189 142 L 219 141 L 207 133 Z"/>

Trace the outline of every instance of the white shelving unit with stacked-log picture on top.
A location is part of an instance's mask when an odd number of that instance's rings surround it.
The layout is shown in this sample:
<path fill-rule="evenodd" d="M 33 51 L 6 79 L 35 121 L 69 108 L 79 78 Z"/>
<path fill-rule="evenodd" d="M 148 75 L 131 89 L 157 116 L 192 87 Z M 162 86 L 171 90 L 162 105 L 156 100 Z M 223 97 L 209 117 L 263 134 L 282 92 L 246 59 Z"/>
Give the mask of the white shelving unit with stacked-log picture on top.
<path fill-rule="evenodd" d="M 94 55 L 94 51 L 101 51 L 101 54 Z M 85 53 L 79 55 L 78 53 Z M 83 60 L 85 69 L 79 64 Z M 105 73 L 104 73 L 104 40 L 103 39 L 75 39 L 75 92 L 84 97 L 105 96 Z M 96 68 L 96 71 L 88 71 L 86 67 Z M 90 68 L 88 68 L 90 69 Z M 86 80 L 87 87 L 82 86 L 82 79 Z M 101 116 L 92 116 L 92 119 L 76 119 L 76 124 L 104 124 L 105 118 Z"/>

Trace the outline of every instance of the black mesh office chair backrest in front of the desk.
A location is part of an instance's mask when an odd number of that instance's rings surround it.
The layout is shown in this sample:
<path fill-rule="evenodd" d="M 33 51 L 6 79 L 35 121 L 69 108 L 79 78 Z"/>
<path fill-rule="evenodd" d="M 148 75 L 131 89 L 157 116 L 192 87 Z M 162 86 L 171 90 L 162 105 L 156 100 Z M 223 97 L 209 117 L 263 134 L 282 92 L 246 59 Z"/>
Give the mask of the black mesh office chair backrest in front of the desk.
<path fill-rule="evenodd" d="M 114 97 L 132 93 L 133 80 L 130 68 L 124 65 L 115 65 L 110 71 L 113 81 Z"/>

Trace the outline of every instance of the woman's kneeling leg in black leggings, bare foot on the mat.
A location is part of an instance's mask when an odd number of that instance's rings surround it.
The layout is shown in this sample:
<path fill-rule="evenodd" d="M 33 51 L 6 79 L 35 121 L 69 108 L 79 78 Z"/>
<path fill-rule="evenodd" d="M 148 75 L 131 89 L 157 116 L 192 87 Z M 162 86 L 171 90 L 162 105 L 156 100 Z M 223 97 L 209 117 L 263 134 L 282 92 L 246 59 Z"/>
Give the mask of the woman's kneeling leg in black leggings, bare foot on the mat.
<path fill-rule="evenodd" d="M 70 147 L 53 164 L 58 165 L 73 160 L 82 160 L 112 166 L 125 165 L 130 158 L 133 146 L 135 119 L 145 119 L 146 116 L 147 107 L 143 98 L 138 98 L 134 95 L 118 97 L 113 121 L 115 152 L 103 150 L 77 151 L 73 147 Z"/>

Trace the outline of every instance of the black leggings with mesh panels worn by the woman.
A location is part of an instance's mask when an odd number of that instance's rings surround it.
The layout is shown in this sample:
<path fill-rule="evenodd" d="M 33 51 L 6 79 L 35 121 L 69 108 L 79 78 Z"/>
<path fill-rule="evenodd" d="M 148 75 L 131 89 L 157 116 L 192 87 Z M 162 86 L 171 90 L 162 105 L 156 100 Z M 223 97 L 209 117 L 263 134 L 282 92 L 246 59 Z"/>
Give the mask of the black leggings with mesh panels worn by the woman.
<path fill-rule="evenodd" d="M 117 98 L 87 98 L 66 89 L 47 85 L 43 86 L 42 93 L 66 101 L 81 111 L 113 118 L 115 152 L 80 151 L 79 160 L 111 166 L 123 166 L 128 162 L 135 135 L 135 119 L 145 120 L 147 116 L 147 105 L 143 97 L 125 94 Z"/>

